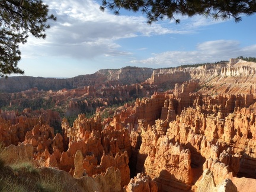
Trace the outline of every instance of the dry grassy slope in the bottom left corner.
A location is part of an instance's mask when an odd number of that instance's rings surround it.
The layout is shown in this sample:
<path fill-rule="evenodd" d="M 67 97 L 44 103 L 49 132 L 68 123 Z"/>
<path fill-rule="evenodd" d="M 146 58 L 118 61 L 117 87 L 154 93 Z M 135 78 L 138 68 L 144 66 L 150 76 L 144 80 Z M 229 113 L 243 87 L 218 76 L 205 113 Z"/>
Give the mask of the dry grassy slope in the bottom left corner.
<path fill-rule="evenodd" d="M 1 192 L 63 192 L 73 191 L 57 177 L 41 175 L 39 168 L 32 161 L 17 159 L 9 162 L 7 159 L 12 152 L 5 150 L 5 146 L 0 142 L 0 191 Z M 8 165 L 8 166 L 7 166 Z M 14 172 L 18 172 L 17 174 Z"/>

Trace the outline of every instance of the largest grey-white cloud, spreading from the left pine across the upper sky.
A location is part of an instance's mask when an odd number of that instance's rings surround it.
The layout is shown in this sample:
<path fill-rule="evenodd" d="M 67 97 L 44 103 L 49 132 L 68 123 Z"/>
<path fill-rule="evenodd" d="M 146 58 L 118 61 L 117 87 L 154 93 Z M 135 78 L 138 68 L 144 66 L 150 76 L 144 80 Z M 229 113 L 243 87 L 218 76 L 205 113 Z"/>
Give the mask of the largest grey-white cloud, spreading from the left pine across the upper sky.
<path fill-rule="evenodd" d="M 146 24 L 145 17 L 116 16 L 108 10 L 100 11 L 94 1 L 44 1 L 57 21 L 50 21 L 52 27 L 46 31 L 46 40 L 29 37 L 21 45 L 23 57 L 69 56 L 91 59 L 100 55 L 126 55 L 116 40 L 137 36 L 161 34 L 184 34 L 187 30 L 172 30 L 164 23 Z M 168 22 L 169 23 L 169 22 Z M 165 26 L 165 27 L 162 27 Z"/>

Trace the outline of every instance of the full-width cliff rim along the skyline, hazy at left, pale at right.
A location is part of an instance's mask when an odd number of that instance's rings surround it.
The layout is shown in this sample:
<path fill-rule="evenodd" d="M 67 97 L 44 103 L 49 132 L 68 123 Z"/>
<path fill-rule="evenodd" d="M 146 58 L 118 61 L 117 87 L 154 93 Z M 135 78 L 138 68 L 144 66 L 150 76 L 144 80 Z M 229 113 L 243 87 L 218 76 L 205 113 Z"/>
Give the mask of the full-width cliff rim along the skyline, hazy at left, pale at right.
<path fill-rule="evenodd" d="M 151 69 L 126 67 L 121 69 L 101 69 L 91 75 L 79 75 L 74 78 L 58 79 L 58 78 L 41 78 L 31 76 L 14 76 L 8 79 L 0 79 L 1 92 L 21 92 L 27 89 L 37 87 L 39 90 L 59 90 L 59 89 L 77 89 L 87 86 L 94 86 L 95 90 L 104 87 L 115 87 L 118 85 L 161 85 L 161 88 L 174 88 L 175 84 L 182 84 L 184 81 L 191 79 L 199 79 L 200 85 L 206 88 L 229 87 L 231 82 L 235 82 L 236 90 L 245 88 L 245 84 L 249 87 L 244 89 L 248 92 L 252 84 L 252 91 L 255 89 L 255 66 L 254 62 L 245 62 L 239 59 L 231 59 L 229 63 L 209 64 L 199 67 L 187 68 L 167 68 L 167 69 Z M 241 79 L 242 78 L 242 79 Z M 224 85 L 228 84 L 228 85 Z M 241 85 L 242 84 L 242 85 Z M 203 89 L 209 93 L 213 90 Z M 229 90 L 223 89 L 227 92 Z M 242 89 L 241 89 L 242 91 Z"/>

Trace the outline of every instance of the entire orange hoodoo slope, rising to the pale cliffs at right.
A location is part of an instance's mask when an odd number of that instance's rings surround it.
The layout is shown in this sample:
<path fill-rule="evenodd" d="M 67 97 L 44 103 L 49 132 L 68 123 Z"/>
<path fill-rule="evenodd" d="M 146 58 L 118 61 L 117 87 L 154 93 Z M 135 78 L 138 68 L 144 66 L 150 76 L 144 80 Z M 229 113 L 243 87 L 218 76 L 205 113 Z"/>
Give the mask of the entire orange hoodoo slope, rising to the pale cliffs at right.
<path fill-rule="evenodd" d="M 92 118 L 79 114 L 73 124 L 62 119 L 60 133 L 50 126 L 60 120 L 52 110 L 1 111 L 0 141 L 13 154 L 6 161 L 27 159 L 96 183 L 107 182 L 100 178 L 111 168 L 115 179 L 103 188 L 113 191 L 240 191 L 250 182 L 249 190 L 256 177 L 255 69 L 256 63 L 231 59 L 155 70 L 142 84 L 130 85 L 148 97 L 116 108 L 111 117 L 98 107 Z M 167 85 L 173 88 L 153 91 Z M 129 86 L 116 88 L 105 89 L 106 95 L 131 93 Z M 104 95 L 97 90 L 58 94 Z"/>

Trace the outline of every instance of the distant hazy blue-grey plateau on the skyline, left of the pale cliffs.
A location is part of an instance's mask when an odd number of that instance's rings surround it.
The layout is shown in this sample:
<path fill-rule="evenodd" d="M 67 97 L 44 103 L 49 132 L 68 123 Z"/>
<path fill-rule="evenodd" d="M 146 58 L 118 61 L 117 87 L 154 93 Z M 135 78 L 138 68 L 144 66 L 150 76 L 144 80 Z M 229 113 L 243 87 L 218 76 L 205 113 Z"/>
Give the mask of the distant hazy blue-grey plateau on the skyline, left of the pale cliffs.
<path fill-rule="evenodd" d="M 102 88 L 101 84 L 111 86 L 131 85 L 141 83 L 152 74 L 151 68 L 136 68 L 127 66 L 121 69 L 101 69 L 91 75 L 79 75 L 74 78 L 42 78 L 33 76 L 12 76 L 0 78 L 1 92 L 21 92 L 37 87 L 39 90 L 56 91 L 59 89 L 84 88 L 95 86 Z"/>

